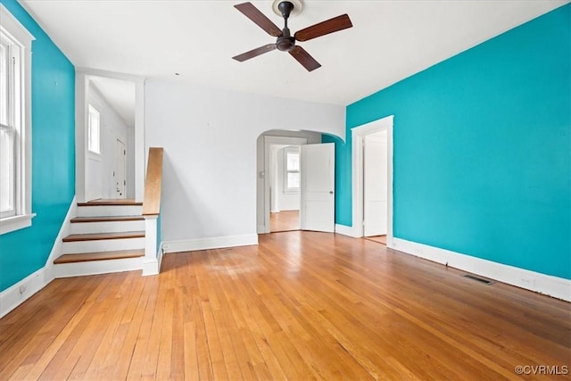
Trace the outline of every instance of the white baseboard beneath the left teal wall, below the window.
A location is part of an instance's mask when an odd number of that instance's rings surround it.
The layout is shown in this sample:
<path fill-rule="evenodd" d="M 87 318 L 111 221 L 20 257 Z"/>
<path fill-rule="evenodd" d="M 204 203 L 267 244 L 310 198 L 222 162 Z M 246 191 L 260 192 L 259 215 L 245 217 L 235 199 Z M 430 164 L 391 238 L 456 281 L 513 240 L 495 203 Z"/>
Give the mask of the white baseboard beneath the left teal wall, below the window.
<path fill-rule="evenodd" d="M 53 280 L 46 268 L 38 269 L 0 293 L 0 319 Z"/>

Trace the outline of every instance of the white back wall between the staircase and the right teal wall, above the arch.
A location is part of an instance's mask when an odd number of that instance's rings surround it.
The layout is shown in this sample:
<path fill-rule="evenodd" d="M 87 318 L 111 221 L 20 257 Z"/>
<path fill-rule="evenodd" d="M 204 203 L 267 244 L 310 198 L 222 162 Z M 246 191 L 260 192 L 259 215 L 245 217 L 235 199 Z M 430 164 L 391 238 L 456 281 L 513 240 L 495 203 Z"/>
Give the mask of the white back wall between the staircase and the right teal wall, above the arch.
<path fill-rule="evenodd" d="M 163 241 L 255 236 L 261 134 L 306 129 L 344 138 L 344 124 L 343 106 L 147 80 L 145 146 L 165 149 Z"/>

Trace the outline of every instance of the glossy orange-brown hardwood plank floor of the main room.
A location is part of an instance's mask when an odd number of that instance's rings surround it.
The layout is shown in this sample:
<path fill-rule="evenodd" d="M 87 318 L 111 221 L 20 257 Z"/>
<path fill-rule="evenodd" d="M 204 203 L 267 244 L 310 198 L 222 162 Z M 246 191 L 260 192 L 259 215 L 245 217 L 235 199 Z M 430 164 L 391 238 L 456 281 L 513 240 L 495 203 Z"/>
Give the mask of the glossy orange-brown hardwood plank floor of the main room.
<path fill-rule="evenodd" d="M 0 319 L 0 379 L 496 380 L 571 365 L 571 303 L 463 274 L 295 231 L 167 254 L 156 277 L 56 279 Z"/>

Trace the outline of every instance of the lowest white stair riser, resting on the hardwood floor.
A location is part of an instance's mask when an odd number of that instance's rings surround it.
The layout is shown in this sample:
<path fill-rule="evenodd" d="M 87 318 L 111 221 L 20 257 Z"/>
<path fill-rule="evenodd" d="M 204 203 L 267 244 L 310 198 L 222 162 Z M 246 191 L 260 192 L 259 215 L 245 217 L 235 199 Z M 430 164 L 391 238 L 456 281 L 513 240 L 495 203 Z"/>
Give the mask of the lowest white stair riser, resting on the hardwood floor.
<path fill-rule="evenodd" d="M 60 263 L 54 265 L 54 277 L 80 277 L 143 268 L 143 257 L 120 260 Z"/>

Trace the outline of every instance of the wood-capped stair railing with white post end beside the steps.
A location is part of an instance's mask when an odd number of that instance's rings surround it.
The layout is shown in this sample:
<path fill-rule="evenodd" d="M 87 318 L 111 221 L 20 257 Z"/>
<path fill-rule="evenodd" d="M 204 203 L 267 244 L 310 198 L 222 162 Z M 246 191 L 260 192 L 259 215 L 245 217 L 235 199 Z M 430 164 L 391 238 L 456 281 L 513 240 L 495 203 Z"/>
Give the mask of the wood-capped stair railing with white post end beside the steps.
<path fill-rule="evenodd" d="M 161 271 L 161 188 L 162 147 L 150 147 L 146 166 L 145 197 L 145 259 L 143 275 L 155 275 Z"/>

